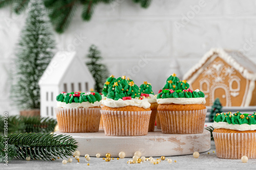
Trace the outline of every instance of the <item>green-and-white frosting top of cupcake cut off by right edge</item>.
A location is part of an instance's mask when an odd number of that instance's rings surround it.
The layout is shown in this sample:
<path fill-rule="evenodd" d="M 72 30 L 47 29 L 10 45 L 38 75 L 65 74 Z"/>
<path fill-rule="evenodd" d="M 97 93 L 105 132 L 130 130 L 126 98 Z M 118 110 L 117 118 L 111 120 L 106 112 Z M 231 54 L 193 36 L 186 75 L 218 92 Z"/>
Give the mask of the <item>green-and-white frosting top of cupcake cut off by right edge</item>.
<path fill-rule="evenodd" d="M 217 113 L 214 116 L 214 124 L 216 129 L 230 129 L 238 131 L 256 130 L 256 113 Z"/>

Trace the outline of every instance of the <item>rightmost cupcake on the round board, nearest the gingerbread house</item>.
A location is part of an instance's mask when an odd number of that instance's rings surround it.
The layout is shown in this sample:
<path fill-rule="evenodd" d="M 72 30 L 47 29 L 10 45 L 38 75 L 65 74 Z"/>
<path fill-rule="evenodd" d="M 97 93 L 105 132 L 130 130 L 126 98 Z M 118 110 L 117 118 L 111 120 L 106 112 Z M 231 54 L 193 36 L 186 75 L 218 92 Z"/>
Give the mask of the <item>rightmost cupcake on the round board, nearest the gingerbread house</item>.
<path fill-rule="evenodd" d="M 157 95 L 157 103 L 162 133 L 203 133 L 207 109 L 202 91 L 190 90 L 185 80 L 173 74 Z"/>

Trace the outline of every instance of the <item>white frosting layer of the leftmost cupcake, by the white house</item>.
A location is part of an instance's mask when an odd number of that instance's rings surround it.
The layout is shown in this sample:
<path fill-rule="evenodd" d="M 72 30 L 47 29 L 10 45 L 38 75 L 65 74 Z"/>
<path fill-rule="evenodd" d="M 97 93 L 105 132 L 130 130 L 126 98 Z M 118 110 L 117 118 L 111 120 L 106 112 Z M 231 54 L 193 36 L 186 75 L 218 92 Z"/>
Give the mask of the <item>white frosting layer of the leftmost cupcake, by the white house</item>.
<path fill-rule="evenodd" d="M 57 102 L 57 108 L 88 108 L 88 107 L 98 107 L 101 105 L 101 102 L 82 102 L 82 103 L 65 103 L 65 102 Z"/>

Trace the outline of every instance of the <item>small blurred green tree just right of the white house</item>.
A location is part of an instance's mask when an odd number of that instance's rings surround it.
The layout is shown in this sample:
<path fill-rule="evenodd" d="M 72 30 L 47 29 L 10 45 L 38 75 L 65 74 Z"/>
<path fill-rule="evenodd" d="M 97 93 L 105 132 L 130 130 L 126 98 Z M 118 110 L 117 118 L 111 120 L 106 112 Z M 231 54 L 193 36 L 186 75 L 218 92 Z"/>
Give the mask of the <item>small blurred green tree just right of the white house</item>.
<path fill-rule="evenodd" d="M 102 57 L 100 56 L 100 51 L 97 49 L 95 45 L 91 45 L 89 49 L 89 54 L 87 57 L 91 60 L 86 63 L 88 66 L 94 80 L 95 80 L 95 86 L 94 90 L 96 92 L 101 92 L 103 86 L 104 86 L 104 80 L 108 78 L 109 76 L 109 70 L 106 68 L 106 66 L 102 63 L 100 63 L 100 60 L 102 60 Z"/>

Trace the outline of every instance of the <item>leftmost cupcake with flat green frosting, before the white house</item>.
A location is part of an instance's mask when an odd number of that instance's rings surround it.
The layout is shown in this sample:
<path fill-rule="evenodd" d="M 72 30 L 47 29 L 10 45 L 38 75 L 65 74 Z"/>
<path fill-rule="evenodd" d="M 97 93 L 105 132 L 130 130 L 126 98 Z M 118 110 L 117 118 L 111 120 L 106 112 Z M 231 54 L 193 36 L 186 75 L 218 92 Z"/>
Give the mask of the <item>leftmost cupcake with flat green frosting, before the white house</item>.
<path fill-rule="evenodd" d="M 101 95 L 98 92 L 62 92 L 55 108 L 60 132 L 98 132 Z"/>

